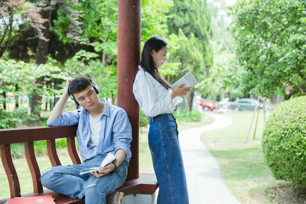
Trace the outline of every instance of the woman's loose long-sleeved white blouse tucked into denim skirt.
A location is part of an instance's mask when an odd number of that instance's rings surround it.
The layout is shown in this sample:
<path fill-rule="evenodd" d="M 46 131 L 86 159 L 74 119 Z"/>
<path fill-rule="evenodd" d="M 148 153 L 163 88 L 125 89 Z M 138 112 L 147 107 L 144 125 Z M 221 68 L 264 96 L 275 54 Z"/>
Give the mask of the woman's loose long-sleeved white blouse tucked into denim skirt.
<path fill-rule="evenodd" d="M 167 90 L 141 66 L 133 84 L 133 93 L 141 110 L 148 117 L 172 113 L 175 106 L 183 101 L 181 97 L 175 97 L 172 100 L 172 90 Z"/>

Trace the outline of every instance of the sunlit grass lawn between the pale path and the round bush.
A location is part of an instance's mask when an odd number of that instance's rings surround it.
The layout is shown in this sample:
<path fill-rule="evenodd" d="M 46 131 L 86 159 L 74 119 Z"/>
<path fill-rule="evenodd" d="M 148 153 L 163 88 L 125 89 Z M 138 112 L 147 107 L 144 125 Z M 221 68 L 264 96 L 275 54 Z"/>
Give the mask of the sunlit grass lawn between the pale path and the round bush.
<path fill-rule="evenodd" d="M 276 181 L 264 162 L 261 146 L 263 112 L 260 112 L 253 140 L 257 115 L 254 118 L 248 143 L 245 142 L 253 112 L 223 115 L 232 118 L 231 126 L 201 135 L 201 141 L 220 164 L 223 181 L 241 203 L 276 203 L 269 198 L 270 190 L 284 182 Z"/>

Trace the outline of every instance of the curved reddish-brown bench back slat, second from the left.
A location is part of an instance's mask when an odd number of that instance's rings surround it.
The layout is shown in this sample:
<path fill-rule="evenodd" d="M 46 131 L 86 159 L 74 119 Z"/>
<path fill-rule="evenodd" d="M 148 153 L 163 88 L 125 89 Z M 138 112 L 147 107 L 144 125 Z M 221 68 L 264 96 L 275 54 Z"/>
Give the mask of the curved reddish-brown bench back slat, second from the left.
<path fill-rule="evenodd" d="M 24 152 L 25 152 L 25 158 L 27 159 L 28 166 L 32 175 L 32 181 L 33 181 L 33 189 L 34 193 L 42 193 L 42 185 L 40 182 L 40 170 L 39 166 L 37 164 L 37 160 L 35 157 L 34 152 L 34 143 L 33 142 L 25 142 L 24 143 Z"/>

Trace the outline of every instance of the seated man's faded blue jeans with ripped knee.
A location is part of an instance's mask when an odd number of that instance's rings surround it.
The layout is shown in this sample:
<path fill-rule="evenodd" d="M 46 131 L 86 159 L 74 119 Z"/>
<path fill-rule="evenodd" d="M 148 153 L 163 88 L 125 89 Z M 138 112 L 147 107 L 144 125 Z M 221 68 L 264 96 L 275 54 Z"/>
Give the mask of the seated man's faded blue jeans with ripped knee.
<path fill-rule="evenodd" d="M 85 203 L 106 203 L 106 196 L 122 186 L 127 175 L 127 163 L 123 161 L 116 172 L 99 178 L 90 173 L 80 175 L 80 170 L 98 167 L 106 155 L 97 155 L 82 164 L 56 166 L 41 177 L 44 187 L 72 198 L 83 198 Z"/>

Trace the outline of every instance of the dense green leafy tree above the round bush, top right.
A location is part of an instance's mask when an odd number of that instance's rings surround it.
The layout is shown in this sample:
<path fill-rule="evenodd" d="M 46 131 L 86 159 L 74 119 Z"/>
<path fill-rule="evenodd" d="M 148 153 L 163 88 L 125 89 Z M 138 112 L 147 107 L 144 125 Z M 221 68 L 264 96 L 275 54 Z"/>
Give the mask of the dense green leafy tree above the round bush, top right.
<path fill-rule="evenodd" d="M 306 2 L 240 0 L 231 14 L 244 89 L 270 96 L 291 85 L 305 94 Z"/>

